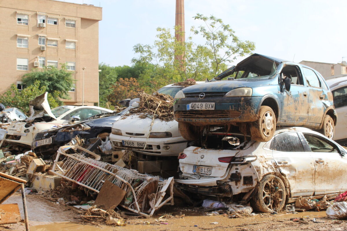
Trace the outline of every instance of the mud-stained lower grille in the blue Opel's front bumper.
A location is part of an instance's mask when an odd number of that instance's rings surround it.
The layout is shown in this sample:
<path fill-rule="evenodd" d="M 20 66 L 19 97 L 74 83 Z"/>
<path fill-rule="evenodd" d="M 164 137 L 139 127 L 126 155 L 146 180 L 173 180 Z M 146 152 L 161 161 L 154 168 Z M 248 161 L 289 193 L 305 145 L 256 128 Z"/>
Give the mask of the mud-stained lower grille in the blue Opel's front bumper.
<path fill-rule="evenodd" d="M 203 111 L 175 112 L 176 118 L 220 119 L 220 118 L 237 118 L 240 115 L 241 115 L 240 111 L 234 111 L 234 110 L 203 110 Z"/>

